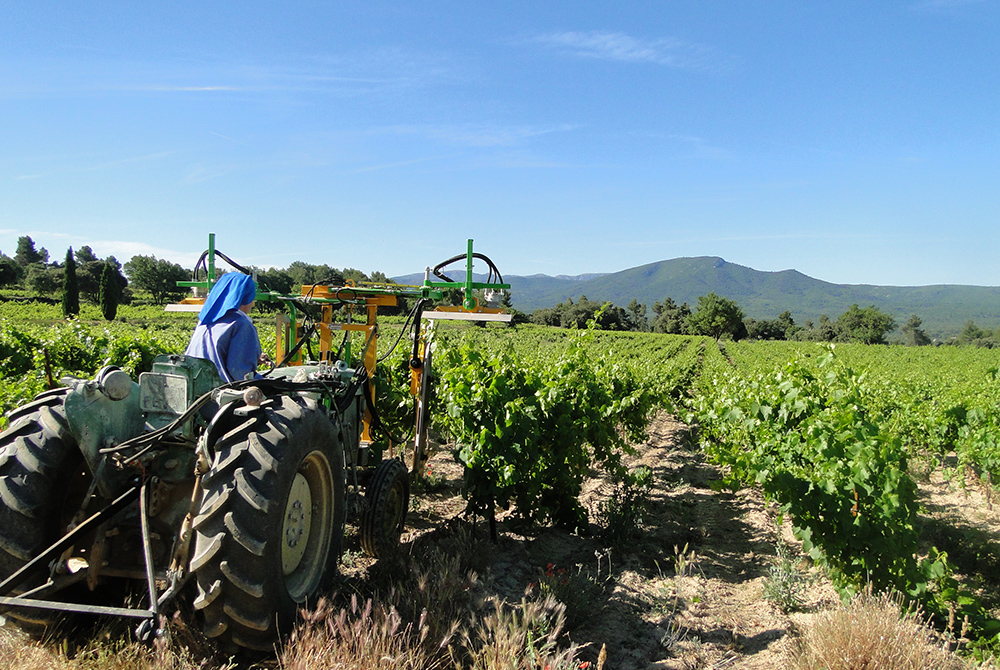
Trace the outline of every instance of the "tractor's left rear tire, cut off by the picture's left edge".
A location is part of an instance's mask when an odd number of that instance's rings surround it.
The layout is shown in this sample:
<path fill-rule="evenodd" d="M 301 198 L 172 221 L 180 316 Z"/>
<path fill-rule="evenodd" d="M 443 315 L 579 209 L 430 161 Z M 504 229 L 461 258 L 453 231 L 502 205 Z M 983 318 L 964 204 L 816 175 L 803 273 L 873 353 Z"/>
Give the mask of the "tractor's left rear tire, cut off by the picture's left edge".
<path fill-rule="evenodd" d="M 48 548 L 64 532 L 70 482 L 83 467 L 63 403 L 69 389 L 39 394 L 8 415 L 0 433 L 0 581 Z M 69 512 L 75 511 L 69 510 Z M 42 583 L 35 575 L 14 593 Z M 63 618 L 53 610 L 12 608 L 4 617 L 35 637 Z"/>

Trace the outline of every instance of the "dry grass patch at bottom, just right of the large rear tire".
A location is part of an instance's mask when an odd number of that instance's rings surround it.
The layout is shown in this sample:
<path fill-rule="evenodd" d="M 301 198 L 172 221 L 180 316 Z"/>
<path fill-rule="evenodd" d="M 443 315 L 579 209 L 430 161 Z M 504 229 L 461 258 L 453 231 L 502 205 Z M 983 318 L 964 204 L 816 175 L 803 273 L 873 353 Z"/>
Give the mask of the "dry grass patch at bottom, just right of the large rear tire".
<path fill-rule="evenodd" d="M 383 559 L 368 587 L 338 606 L 326 600 L 283 649 L 282 670 L 576 670 L 561 647 L 565 606 L 554 598 L 518 605 L 480 600 L 475 568 L 488 549 L 463 528 L 408 555 Z"/>

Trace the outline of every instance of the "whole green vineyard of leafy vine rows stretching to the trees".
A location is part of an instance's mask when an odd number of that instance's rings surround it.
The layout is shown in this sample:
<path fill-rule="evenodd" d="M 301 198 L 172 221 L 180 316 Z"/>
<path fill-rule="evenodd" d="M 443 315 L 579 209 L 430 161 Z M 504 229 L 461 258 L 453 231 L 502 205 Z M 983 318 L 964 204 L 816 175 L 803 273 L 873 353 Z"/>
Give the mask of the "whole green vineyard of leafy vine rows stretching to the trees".
<path fill-rule="evenodd" d="M 5 414 L 62 375 L 105 365 L 137 375 L 156 355 L 182 351 L 194 325 L 193 315 L 153 308 L 123 307 L 112 323 L 87 311 L 66 322 L 57 309 L 0 305 Z M 270 317 L 255 321 L 273 353 Z M 398 434 L 413 411 L 407 347 L 389 351 L 401 326 L 384 324 L 376 377 L 380 411 Z M 596 524 L 597 536 L 627 555 L 622 536 L 599 527 L 617 508 L 581 495 L 600 473 L 613 500 L 650 505 L 636 497 L 649 490 L 649 475 L 635 469 L 636 445 L 657 430 L 651 421 L 670 417 L 696 448 L 691 457 L 713 468 L 705 486 L 761 496 L 787 524 L 793 550 L 841 597 L 894 589 L 939 621 L 966 620 L 970 653 L 1000 648 L 1000 577 L 989 571 L 1000 567 L 990 558 L 1000 549 L 994 539 L 977 549 L 928 532 L 922 493 L 933 480 L 991 504 L 1000 353 L 530 325 L 441 325 L 431 337 L 432 434 L 437 458 L 448 454 L 458 468 L 466 512 L 519 533 Z M 642 533 L 643 515 L 628 523 L 624 545 L 647 546 L 629 535 Z M 662 547 L 658 556 L 676 562 L 678 551 Z"/>

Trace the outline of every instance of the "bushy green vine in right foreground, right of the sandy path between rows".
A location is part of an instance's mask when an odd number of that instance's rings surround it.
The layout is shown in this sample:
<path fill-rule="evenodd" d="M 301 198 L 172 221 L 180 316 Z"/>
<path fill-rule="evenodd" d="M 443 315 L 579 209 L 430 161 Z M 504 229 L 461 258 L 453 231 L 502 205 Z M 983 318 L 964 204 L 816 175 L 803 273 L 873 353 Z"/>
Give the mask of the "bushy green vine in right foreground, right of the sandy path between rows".
<path fill-rule="evenodd" d="M 759 485 L 779 502 L 845 597 L 866 584 L 895 589 L 992 635 L 1000 622 L 959 585 L 944 552 L 918 558 L 910 452 L 891 409 L 899 399 L 887 403 L 884 388 L 828 353 L 776 375 L 716 376 L 691 418 L 706 453 L 731 468 L 728 484 Z"/>

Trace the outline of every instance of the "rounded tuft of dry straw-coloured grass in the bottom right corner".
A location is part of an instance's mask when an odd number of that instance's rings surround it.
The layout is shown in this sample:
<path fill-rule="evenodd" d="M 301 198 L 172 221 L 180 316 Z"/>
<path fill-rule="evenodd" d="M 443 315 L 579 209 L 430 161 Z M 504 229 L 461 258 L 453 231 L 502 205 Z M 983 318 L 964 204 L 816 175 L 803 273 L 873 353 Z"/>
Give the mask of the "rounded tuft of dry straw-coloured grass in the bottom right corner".
<path fill-rule="evenodd" d="M 819 615 L 803 634 L 793 670 L 962 670 L 913 609 L 890 595 L 858 595 Z"/>

